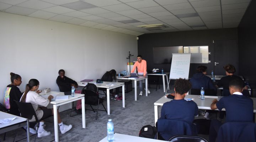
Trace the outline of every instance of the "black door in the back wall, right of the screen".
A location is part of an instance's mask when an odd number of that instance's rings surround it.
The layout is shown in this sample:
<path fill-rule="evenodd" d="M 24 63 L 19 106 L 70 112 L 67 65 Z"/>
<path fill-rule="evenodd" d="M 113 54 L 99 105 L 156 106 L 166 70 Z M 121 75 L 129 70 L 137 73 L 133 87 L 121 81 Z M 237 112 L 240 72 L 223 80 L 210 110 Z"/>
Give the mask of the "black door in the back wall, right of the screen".
<path fill-rule="evenodd" d="M 214 74 L 226 75 L 223 66 L 232 64 L 238 75 L 238 47 L 236 40 L 214 40 Z"/>

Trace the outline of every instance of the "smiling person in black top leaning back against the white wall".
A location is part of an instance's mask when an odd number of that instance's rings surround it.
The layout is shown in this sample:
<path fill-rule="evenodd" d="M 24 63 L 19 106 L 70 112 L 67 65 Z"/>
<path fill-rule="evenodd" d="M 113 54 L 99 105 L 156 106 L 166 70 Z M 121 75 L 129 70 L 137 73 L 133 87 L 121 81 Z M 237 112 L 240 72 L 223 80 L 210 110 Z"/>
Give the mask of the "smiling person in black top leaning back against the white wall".
<path fill-rule="evenodd" d="M 78 83 L 68 77 L 65 76 L 65 71 L 63 69 L 59 70 L 59 76 L 57 77 L 56 83 L 59 86 L 59 89 L 61 92 L 71 92 L 72 86 L 75 88 L 78 88 Z M 80 91 L 75 91 L 75 93 L 80 93 Z M 75 111 L 77 114 L 82 114 L 82 106 L 81 106 L 81 100 L 78 100 L 76 102 L 76 108 Z"/>

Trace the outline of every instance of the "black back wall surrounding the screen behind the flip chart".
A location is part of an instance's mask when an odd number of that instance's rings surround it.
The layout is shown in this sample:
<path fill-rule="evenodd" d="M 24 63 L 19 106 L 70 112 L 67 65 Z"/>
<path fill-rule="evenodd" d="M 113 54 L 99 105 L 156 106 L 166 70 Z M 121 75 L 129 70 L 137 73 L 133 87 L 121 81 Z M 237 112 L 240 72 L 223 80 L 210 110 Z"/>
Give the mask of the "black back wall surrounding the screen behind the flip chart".
<path fill-rule="evenodd" d="M 138 54 L 141 54 L 143 59 L 147 61 L 148 69 L 163 68 L 165 72 L 170 72 L 171 64 L 153 63 L 153 47 L 208 45 L 211 62 L 208 64 L 190 64 L 189 77 L 196 72 L 199 65 L 207 66 L 208 74 L 210 74 L 214 68 L 213 40 L 230 39 L 238 39 L 237 28 L 143 34 L 139 36 L 138 40 Z"/>

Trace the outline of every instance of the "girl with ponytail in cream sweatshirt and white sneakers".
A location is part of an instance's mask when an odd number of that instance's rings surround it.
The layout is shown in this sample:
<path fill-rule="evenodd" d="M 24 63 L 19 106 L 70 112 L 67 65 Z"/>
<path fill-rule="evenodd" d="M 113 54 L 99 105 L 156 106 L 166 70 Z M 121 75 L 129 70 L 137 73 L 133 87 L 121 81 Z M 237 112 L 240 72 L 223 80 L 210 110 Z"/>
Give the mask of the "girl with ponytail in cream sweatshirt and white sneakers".
<path fill-rule="evenodd" d="M 39 88 L 39 81 L 36 79 L 31 79 L 28 84 L 26 85 L 26 91 L 23 93 L 20 102 L 26 102 L 31 103 L 34 111 L 36 112 L 37 118 L 40 121 L 39 122 L 39 128 L 38 128 L 38 137 L 48 136 L 50 135 L 50 132 L 47 132 L 44 130 L 44 121 L 43 119 L 47 118 L 50 115 L 53 115 L 53 109 L 46 108 L 47 105 L 50 103 L 51 99 L 53 98 L 52 95 L 49 95 L 48 99 L 42 97 L 39 95 L 37 91 Z M 43 107 L 38 107 L 38 105 L 41 105 Z M 60 132 L 65 133 L 69 131 L 72 128 L 72 125 L 65 125 L 63 124 L 59 111 L 57 111 L 58 115 L 58 124 L 60 126 Z M 30 122 L 35 121 L 35 118 L 30 120 Z"/>

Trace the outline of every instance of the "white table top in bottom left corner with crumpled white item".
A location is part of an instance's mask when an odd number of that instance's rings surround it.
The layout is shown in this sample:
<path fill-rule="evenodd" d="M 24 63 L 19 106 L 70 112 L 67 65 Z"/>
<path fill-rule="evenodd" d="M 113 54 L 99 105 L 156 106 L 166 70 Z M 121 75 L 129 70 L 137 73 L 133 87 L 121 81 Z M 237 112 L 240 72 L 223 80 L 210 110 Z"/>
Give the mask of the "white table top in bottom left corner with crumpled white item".
<path fill-rule="evenodd" d="M 10 123 L 0 125 L 0 129 L 2 129 L 4 127 L 7 127 L 7 126 L 15 125 L 15 124 L 20 123 L 20 122 L 27 122 L 26 118 L 22 118 L 20 116 L 16 116 L 16 115 L 12 115 L 12 114 L 0 111 L 0 119 L 14 118 L 14 117 L 16 117 L 16 119 L 11 121 Z"/>

